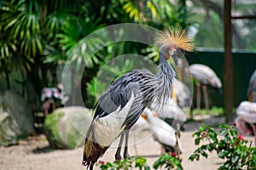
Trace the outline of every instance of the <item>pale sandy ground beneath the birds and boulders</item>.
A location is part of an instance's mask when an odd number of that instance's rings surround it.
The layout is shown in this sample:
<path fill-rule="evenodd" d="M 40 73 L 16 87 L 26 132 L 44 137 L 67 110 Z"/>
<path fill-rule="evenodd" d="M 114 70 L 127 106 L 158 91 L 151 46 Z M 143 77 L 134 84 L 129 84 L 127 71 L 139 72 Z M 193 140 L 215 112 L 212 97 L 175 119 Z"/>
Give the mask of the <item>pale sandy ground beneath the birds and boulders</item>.
<path fill-rule="evenodd" d="M 207 122 L 208 121 L 208 122 Z M 200 127 L 201 122 L 207 124 L 219 124 L 224 118 L 204 119 L 203 121 L 185 124 L 185 132 L 181 133 L 183 144 L 182 165 L 185 170 L 218 169 L 222 160 L 218 159 L 216 153 L 209 154 L 208 159 L 201 158 L 200 161 L 189 161 L 189 156 L 196 149 L 192 133 Z M 247 137 L 253 140 L 251 137 Z M 144 156 L 152 167 L 154 161 L 160 156 L 160 144 L 154 141 L 147 128 L 137 129 L 130 135 L 130 156 Z M 116 144 L 113 144 L 100 160 L 113 161 Z M 28 138 L 20 141 L 20 144 L 8 147 L 0 147 L 0 170 L 79 170 L 86 169 L 81 165 L 83 149 L 75 150 L 53 150 L 44 135 Z M 95 169 L 100 169 L 95 167 Z M 153 168 L 152 168 L 153 169 Z"/>

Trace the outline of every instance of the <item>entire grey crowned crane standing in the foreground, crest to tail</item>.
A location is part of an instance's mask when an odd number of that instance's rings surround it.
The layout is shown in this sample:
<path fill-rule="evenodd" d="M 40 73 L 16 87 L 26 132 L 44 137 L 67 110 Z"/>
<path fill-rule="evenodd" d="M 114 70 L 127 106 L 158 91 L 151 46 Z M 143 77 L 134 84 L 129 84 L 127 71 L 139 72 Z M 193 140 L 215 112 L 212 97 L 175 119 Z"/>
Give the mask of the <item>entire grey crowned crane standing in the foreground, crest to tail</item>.
<path fill-rule="evenodd" d="M 86 133 L 82 161 L 84 166 L 93 169 L 98 158 L 119 136 L 115 159 L 121 159 L 120 150 L 124 138 L 124 157 L 129 157 L 127 144 L 130 128 L 153 100 L 162 105 L 171 96 L 175 71 L 167 59 L 172 56 L 177 61 L 177 49 L 191 51 L 193 43 L 181 29 L 161 31 L 158 42 L 161 47 L 157 74 L 147 70 L 126 73 L 113 82 L 98 99 L 93 120 Z"/>

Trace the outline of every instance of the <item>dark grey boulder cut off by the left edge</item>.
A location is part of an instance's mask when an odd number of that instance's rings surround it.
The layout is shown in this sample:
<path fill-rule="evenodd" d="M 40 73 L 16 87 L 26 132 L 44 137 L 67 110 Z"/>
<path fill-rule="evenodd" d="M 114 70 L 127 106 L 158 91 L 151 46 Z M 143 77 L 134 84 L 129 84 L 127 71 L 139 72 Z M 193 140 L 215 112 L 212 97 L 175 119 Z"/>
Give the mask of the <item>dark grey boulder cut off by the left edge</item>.
<path fill-rule="evenodd" d="M 0 94 L 0 145 L 14 144 L 34 132 L 32 109 L 20 94 Z"/>

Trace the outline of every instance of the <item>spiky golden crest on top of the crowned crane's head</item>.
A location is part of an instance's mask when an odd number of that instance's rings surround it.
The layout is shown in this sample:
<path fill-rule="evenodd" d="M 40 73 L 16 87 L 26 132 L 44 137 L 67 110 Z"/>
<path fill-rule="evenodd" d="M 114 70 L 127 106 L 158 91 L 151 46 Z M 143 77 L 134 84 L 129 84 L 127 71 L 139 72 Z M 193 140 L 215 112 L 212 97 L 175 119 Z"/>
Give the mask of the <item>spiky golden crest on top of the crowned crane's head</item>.
<path fill-rule="evenodd" d="M 186 31 L 180 27 L 176 29 L 172 27 L 165 28 L 163 31 L 160 31 L 156 40 L 159 45 L 176 45 L 184 51 L 193 51 L 194 43 L 192 41 L 192 38 L 187 37 Z"/>

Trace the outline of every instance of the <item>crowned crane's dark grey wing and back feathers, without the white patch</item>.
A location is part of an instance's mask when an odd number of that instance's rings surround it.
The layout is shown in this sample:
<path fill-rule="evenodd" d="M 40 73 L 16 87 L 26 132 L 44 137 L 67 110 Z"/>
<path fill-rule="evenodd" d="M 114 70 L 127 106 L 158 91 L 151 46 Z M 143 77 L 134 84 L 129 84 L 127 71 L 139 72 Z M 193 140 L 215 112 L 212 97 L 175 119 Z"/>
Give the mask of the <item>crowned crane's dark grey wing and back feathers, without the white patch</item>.
<path fill-rule="evenodd" d="M 125 122 L 122 125 L 125 129 L 131 128 L 137 122 L 146 105 L 149 105 L 152 100 L 149 97 L 147 98 L 148 100 L 145 100 L 145 96 L 151 93 L 151 90 L 148 90 L 149 88 L 145 84 L 150 84 L 152 79 L 152 73 L 143 70 L 131 71 L 120 77 L 102 94 L 96 105 L 94 119 L 107 116 L 119 107 L 122 110 L 131 99 L 131 93 L 133 93 L 135 99 L 130 111 L 127 111 Z"/>

